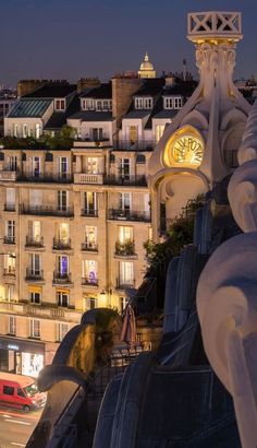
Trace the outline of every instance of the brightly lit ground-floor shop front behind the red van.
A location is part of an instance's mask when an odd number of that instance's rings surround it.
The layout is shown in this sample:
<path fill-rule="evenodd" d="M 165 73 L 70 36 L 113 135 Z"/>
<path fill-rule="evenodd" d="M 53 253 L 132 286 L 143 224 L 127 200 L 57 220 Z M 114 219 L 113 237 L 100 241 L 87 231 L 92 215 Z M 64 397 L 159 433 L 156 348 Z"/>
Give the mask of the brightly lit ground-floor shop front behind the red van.
<path fill-rule="evenodd" d="M 19 338 L 0 338 L 0 369 L 37 377 L 45 366 L 45 343 Z"/>

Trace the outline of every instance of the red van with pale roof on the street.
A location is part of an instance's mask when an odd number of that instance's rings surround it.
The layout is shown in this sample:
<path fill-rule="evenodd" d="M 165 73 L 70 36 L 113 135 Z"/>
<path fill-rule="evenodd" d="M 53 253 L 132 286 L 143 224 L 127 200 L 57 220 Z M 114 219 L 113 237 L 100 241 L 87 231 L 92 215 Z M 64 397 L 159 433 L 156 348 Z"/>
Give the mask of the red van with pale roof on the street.
<path fill-rule="evenodd" d="M 25 412 L 45 405 L 47 396 L 39 392 L 30 377 L 0 372 L 0 404 L 21 408 Z"/>

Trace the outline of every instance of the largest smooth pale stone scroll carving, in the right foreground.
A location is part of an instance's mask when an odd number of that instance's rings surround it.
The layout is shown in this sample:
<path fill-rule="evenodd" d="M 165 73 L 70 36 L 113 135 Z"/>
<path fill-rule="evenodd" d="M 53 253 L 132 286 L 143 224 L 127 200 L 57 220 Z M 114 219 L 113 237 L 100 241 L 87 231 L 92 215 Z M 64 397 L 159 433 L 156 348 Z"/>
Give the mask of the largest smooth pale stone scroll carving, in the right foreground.
<path fill-rule="evenodd" d="M 233 397 L 242 447 L 257 446 L 257 233 L 220 246 L 204 269 L 197 310 L 207 356 Z"/>

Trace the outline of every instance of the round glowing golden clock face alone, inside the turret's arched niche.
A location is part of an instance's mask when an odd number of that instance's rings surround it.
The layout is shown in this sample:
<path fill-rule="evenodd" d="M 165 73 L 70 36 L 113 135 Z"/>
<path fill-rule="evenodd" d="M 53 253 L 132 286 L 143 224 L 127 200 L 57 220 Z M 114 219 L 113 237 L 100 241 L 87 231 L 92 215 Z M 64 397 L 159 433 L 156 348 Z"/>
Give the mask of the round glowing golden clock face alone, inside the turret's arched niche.
<path fill-rule="evenodd" d="M 173 141 L 170 151 L 176 164 L 198 166 L 203 161 L 204 143 L 196 135 L 185 133 Z"/>

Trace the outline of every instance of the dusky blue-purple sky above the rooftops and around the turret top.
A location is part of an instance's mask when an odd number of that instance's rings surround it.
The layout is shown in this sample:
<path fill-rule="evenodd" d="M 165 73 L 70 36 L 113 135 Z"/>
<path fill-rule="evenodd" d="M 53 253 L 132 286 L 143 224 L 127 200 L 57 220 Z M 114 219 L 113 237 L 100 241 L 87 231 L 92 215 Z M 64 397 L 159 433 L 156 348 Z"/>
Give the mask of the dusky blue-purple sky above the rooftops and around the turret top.
<path fill-rule="evenodd" d="M 257 75 L 256 0 L 0 0 L 0 83 L 19 79 L 108 80 L 137 71 L 146 50 L 158 73 L 196 74 L 186 40 L 191 11 L 242 11 L 236 78 Z"/>

